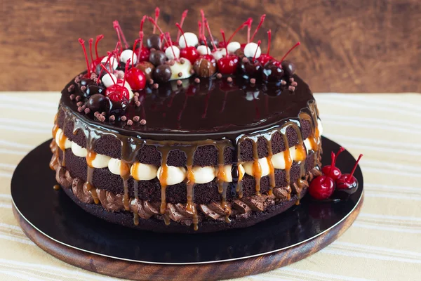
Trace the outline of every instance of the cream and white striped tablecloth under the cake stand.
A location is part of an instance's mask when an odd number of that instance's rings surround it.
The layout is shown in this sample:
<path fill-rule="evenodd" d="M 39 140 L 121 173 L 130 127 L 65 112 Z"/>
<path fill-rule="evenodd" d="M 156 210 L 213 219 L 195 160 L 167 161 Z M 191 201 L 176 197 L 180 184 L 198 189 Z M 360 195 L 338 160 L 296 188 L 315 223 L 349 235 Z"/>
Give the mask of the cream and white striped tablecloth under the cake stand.
<path fill-rule="evenodd" d="M 361 214 L 309 258 L 241 280 L 421 280 L 421 95 L 316 94 L 325 136 L 361 162 Z M 115 280 L 55 259 L 15 221 L 10 183 L 51 138 L 58 93 L 0 93 L 0 280 Z M 34 106 L 36 105 L 36 106 Z"/>

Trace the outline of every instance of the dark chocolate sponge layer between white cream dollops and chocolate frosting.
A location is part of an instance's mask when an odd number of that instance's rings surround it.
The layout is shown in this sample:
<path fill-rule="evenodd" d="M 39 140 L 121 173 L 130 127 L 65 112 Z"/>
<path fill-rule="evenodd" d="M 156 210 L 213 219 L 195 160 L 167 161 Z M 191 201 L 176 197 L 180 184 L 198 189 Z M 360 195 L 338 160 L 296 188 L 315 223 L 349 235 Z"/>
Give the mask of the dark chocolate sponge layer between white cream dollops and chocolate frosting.
<path fill-rule="evenodd" d="M 87 180 L 87 164 L 86 158 L 77 157 L 73 154 L 71 149 L 65 150 L 66 169 L 72 177 L 81 178 L 83 181 Z M 310 152 L 305 159 L 305 171 L 309 172 L 314 166 L 314 152 Z M 62 160 L 62 152 L 60 150 L 60 162 Z M 274 169 L 274 178 L 276 186 L 287 186 L 286 171 L 281 169 Z M 300 178 L 300 164 L 293 162 L 290 169 L 290 182 L 293 183 Z M 98 186 L 102 190 L 107 190 L 114 194 L 124 194 L 123 178 L 119 175 L 112 174 L 108 168 L 93 170 L 93 186 Z M 140 200 L 147 200 L 149 202 L 161 201 L 161 185 L 158 178 L 151 181 L 138 181 L 135 185 L 133 178 L 128 179 L 128 195 L 135 196 L 135 188 L 138 188 L 138 197 Z M 245 175 L 242 181 L 243 196 L 255 195 L 255 178 Z M 270 189 L 269 176 L 263 176 L 260 179 L 260 192 L 268 192 Z M 231 202 L 238 199 L 239 194 L 236 192 L 236 185 L 229 183 L 227 186 L 226 199 Z M 193 202 L 198 204 L 209 204 L 210 202 L 218 202 L 222 200 L 222 195 L 218 192 L 218 179 L 215 178 L 210 183 L 203 183 L 194 185 Z M 169 203 L 186 203 L 187 202 L 187 185 L 185 182 L 176 185 L 168 185 L 166 187 L 166 201 Z"/>

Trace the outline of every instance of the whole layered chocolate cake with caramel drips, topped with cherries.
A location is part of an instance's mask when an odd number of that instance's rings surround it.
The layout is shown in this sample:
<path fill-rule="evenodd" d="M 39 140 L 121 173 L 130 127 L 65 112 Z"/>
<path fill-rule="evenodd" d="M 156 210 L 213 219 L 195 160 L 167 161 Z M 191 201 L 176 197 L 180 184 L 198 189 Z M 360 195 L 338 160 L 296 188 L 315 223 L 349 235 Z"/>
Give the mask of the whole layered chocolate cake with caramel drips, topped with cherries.
<path fill-rule="evenodd" d="M 88 213 L 168 233 L 244 228 L 299 204 L 321 175 L 316 101 L 293 63 L 255 41 L 218 42 L 201 12 L 199 34 L 163 32 L 144 16 L 129 45 L 98 54 L 62 91 L 51 169 Z M 150 24 L 153 33 L 144 35 Z M 298 46 L 296 44 L 295 46 Z M 294 46 L 294 47 L 295 47 Z M 292 50 L 292 49 L 291 49 Z M 290 50 L 290 51 L 291 51 Z M 88 55 L 89 53 L 89 55 Z"/>

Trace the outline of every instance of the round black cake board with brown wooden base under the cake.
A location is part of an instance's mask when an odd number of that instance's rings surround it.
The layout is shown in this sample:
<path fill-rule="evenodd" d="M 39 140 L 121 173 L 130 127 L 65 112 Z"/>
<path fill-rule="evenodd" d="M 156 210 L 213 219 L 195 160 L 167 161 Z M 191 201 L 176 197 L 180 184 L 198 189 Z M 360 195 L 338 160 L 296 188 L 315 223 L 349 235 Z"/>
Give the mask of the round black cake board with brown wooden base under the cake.
<path fill-rule="evenodd" d="M 53 190 L 47 141 L 29 152 L 11 184 L 13 212 L 41 249 L 74 266 L 133 280 L 218 280 L 262 273 L 314 254 L 351 226 L 363 203 L 359 189 L 340 202 L 300 205 L 249 228 L 203 234 L 163 234 L 102 221 L 79 208 L 63 190 Z M 323 138 L 322 163 L 340 145 Z M 350 172 L 355 159 L 345 150 L 338 167 Z"/>

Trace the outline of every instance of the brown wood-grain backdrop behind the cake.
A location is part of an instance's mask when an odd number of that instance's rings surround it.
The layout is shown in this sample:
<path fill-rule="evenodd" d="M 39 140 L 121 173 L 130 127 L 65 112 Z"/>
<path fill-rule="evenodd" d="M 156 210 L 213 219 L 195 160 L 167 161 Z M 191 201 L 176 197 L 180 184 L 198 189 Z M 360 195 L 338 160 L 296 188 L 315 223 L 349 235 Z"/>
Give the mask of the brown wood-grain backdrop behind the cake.
<path fill-rule="evenodd" d="M 134 40 L 142 15 L 153 15 L 157 4 L 159 24 L 174 36 L 174 24 L 186 8 L 185 30 L 197 30 L 203 8 L 218 38 L 221 27 L 231 34 L 250 16 L 254 30 L 266 13 L 258 34 L 263 50 L 269 28 L 272 55 L 280 57 L 301 41 L 289 59 L 313 91 L 421 92 L 419 0 L 1 0 L 0 91 L 61 90 L 86 68 L 79 37 L 88 41 L 105 34 L 100 44 L 105 53 L 116 41 L 113 20 Z"/>

